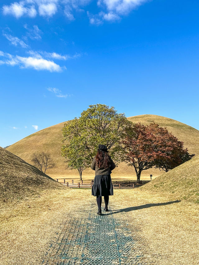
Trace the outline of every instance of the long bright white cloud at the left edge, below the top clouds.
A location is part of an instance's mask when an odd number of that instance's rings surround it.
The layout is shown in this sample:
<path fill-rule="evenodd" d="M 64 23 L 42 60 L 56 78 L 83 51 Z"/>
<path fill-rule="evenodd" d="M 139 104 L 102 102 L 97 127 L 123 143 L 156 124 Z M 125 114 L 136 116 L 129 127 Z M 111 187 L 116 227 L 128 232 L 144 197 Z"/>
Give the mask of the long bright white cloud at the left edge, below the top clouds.
<path fill-rule="evenodd" d="M 46 60 L 42 57 L 22 57 L 0 51 L 0 56 L 4 57 L 1 64 L 7 64 L 10 66 L 18 65 L 20 68 L 33 68 L 35 70 L 47 70 L 50 72 L 61 72 L 62 68 L 66 69 L 65 66 L 60 67 L 53 61 Z"/>

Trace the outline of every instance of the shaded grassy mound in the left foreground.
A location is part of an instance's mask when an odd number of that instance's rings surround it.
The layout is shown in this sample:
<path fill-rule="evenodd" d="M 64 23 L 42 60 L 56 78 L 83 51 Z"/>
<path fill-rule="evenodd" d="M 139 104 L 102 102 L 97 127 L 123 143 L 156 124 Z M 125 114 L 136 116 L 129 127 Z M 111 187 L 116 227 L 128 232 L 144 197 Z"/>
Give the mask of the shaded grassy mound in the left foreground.
<path fill-rule="evenodd" d="M 0 199 L 21 199 L 44 189 L 64 186 L 0 147 Z"/>

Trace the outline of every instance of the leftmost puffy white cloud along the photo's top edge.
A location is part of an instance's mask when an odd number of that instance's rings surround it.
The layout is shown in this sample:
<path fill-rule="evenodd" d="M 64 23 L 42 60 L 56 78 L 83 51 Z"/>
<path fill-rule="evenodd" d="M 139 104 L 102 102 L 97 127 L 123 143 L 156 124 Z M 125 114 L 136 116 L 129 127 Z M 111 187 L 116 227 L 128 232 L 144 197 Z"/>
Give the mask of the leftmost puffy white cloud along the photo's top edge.
<path fill-rule="evenodd" d="M 34 6 L 25 7 L 25 1 L 20 1 L 19 3 L 14 2 L 10 6 L 5 5 L 2 7 L 4 15 L 13 15 L 16 18 L 27 15 L 30 17 L 35 17 L 37 11 Z"/>

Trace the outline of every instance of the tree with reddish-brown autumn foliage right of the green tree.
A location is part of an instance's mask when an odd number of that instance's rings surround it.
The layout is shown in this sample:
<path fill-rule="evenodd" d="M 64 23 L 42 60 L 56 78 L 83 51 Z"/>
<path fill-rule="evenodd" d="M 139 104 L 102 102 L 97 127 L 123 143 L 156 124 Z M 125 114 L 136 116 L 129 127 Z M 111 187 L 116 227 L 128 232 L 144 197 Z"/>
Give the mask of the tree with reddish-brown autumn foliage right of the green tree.
<path fill-rule="evenodd" d="M 155 123 L 127 127 L 122 143 L 124 160 L 135 168 L 137 181 L 143 170 L 156 167 L 168 171 L 194 156 L 183 148 L 183 142 Z"/>

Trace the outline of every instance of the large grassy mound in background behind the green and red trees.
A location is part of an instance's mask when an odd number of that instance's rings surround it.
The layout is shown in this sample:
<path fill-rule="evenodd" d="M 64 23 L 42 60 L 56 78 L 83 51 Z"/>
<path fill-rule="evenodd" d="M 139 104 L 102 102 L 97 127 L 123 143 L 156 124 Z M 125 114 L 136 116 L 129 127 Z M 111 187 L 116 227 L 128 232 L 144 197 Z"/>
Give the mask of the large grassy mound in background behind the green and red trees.
<path fill-rule="evenodd" d="M 132 122 L 141 122 L 146 125 L 154 121 L 160 124 L 162 127 L 166 127 L 169 132 L 172 132 L 180 141 L 184 142 L 184 147 L 187 147 L 189 153 L 199 154 L 199 131 L 191 126 L 188 126 L 179 121 L 175 121 L 166 117 L 161 117 L 157 115 L 139 115 L 128 118 Z M 37 151 L 48 151 L 51 153 L 53 160 L 56 162 L 57 167 L 49 169 L 47 173 L 50 176 L 62 176 L 62 175 L 78 175 L 76 170 L 66 170 L 67 164 L 65 163 L 65 158 L 61 157 L 61 147 L 62 147 L 62 128 L 64 126 L 62 122 L 54 126 L 50 126 L 34 134 L 31 134 L 24 139 L 10 145 L 7 150 L 16 154 L 20 158 L 24 159 L 26 162 L 31 163 L 30 156 L 32 153 Z M 83 171 L 84 175 L 93 175 L 94 171 L 91 169 L 86 169 Z M 122 176 L 122 175 L 135 175 L 135 171 L 132 167 L 128 167 L 126 163 L 120 163 L 118 167 L 113 171 L 112 176 Z M 159 175 L 160 171 L 158 169 L 150 169 L 142 172 L 145 174 Z"/>

